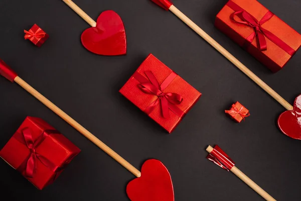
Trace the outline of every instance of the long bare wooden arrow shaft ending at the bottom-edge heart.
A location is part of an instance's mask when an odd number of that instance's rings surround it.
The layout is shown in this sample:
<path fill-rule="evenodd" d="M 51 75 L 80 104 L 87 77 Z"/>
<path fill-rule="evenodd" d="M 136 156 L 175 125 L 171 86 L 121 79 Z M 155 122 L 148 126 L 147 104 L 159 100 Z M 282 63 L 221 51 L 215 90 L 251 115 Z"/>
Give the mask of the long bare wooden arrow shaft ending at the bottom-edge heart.
<path fill-rule="evenodd" d="M 70 124 L 73 128 L 83 134 L 86 138 L 88 138 L 91 142 L 93 142 L 96 146 L 102 149 L 105 153 L 115 159 L 118 163 L 120 163 L 123 167 L 125 167 L 128 171 L 130 171 L 136 177 L 140 177 L 141 173 L 134 166 L 129 164 L 126 160 L 124 160 L 121 156 L 119 156 L 116 152 L 114 152 L 111 148 L 101 142 L 98 138 L 96 138 L 92 133 L 90 133 L 87 129 L 77 123 L 74 119 L 64 113 L 61 109 L 59 109 L 56 105 L 50 102 L 45 96 L 39 93 L 36 89 L 26 83 L 19 76 L 15 78 L 15 82 L 17 82 L 20 86 L 22 86 L 25 90 L 35 96 L 40 102 L 42 102 L 45 106 L 47 106 L 50 110 L 52 110 L 55 114 L 60 116 L 63 120 L 65 120 L 68 124 Z"/>

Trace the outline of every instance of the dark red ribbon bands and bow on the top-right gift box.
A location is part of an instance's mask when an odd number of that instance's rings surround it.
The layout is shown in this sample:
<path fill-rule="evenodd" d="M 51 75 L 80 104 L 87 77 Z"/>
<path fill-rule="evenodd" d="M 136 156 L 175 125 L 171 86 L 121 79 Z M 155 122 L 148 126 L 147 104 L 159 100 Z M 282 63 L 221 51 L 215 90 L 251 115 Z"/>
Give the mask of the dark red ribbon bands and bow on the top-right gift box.
<path fill-rule="evenodd" d="M 281 39 L 279 39 L 277 36 L 275 36 L 270 31 L 262 28 L 262 25 L 269 21 L 274 14 L 270 11 L 268 11 L 263 18 L 258 22 L 256 18 L 254 18 L 251 14 L 243 10 L 241 7 L 239 7 L 237 4 L 235 4 L 232 1 L 229 1 L 227 3 L 227 6 L 230 7 L 235 12 L 230 15 L 230 19 L 239 24 L 243 24 L 249 27 L 252 27 L 254 29 L 254 32 L 246 38 L 246 44 L 244 45 L 246 48 L 253 42 L 253 40 L 257 39 L 257 47 L 260 51 L 267 50 L 267 44 L 266 44 L 266 38 L 268 38 L 270 41 L 275 43 L 278 47 L 283 49 L 285 52 L 287 52 L 290 56 L 294 55 L 295 50 L 289 47 L 286 43 L 284 43 Z M 234 17 L 237 16 L 243 21 L 238 21 Z"/>

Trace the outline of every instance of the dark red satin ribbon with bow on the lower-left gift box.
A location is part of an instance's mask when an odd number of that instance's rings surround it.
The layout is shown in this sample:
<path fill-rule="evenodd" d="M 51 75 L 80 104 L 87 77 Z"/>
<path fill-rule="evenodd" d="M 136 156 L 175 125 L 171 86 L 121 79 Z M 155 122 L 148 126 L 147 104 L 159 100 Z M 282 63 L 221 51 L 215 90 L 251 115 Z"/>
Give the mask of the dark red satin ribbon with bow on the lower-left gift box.
<path fill-rule="evenodd" d="M 41 145 L 41 143 L 46 139 L 50 134 L 57 133 L 58 131 L 46 130 L 41 133 L 36 141 L 33 141 L 32 131 L 29 128 L 22 130 L 22 134 L 15 135 L 14 137 L 26 145 L 30 150 L 30 155 L 24 160 L 24 162 L 17 168 L 18 171 L 23 172 L 25 170 L 25 176 L 32 178 L 36 170 L 37 159 L 40 160 L 46 167 L 51 169 L 53 172 L 61 170 L 63 167 L 59 167 L 52 163 L 49 159 L 37 153 L 36 149 Z"/>

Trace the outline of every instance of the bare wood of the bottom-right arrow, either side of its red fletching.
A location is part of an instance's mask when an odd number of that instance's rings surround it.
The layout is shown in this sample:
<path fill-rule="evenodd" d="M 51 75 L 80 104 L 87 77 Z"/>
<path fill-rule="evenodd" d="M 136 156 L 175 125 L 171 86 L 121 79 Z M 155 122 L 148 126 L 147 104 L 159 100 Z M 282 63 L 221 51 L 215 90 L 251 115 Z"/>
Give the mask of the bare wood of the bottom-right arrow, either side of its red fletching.
<path fill-rule="evenodd" d="M 211 153 L 213 147 L 208 146 L 206 151 Z M 245 182 L 248 186 L 250 186 L 253 190 L 255 190 L 258 194 L 260 194 L 264 199 L 268 201 L 276 201 L 271 195 L 265 192 L 259 185 L 257 185 L 254 181 L 252 181 L 249 177 L 247 177 L 242 171 L 240 171 L 237 167 L 232 167 L 230 170 L 236 176 L 238 176 L 243 182 Z"/>

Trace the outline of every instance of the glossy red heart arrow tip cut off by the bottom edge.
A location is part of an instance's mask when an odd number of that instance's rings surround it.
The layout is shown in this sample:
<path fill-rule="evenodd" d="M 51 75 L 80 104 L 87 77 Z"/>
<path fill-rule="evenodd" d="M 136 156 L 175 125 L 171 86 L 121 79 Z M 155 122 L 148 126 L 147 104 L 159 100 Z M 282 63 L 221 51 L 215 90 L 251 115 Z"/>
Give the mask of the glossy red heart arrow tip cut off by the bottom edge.
<path fill-rule="evenodd" d="M 147 160 L 141 168 L 141 177 L 130 181 L 126 187 L 131 201 L 174 201 L 171 175 L 164 164 Z"/>

